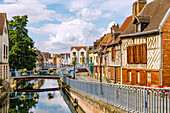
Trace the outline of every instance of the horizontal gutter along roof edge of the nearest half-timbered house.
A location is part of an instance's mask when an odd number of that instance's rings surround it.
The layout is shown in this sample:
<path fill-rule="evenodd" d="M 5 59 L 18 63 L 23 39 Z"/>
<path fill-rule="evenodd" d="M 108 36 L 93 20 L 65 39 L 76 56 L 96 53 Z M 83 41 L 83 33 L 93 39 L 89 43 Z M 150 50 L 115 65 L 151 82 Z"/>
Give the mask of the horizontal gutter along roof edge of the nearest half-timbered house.
<path fill-rule="evenodd" d="M 155 30 L 150 30 L 150 31 L 144 31 L 144 32 L 137 32 L 137 33 L 120 35 L 119 37 L 120 38 L 125 38 L 125 37 L 132 37 L 132 36 L 147 35 L 147 34 L 152 34 L 152 33 L 157 33 L 157 32 L 159 32 L 159 30 L 155 29 Z"/>

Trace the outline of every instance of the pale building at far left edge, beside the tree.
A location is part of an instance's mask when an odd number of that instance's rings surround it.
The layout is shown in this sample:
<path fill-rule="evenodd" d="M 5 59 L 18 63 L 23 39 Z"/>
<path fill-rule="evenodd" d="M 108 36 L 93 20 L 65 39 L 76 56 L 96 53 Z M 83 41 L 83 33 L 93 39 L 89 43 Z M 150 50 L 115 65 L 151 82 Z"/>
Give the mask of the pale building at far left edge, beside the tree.
<path fill-rule="evenodd" d="M 6 13 L 0 13 L 0 79 L 9 81 L 9 37 Z"/>

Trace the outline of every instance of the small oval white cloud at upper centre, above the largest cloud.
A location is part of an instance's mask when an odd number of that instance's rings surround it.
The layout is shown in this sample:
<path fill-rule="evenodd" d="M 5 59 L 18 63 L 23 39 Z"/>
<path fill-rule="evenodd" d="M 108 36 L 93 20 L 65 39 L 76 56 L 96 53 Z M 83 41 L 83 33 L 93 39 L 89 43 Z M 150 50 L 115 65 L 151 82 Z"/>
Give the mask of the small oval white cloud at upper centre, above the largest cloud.
<path fill-rule="evenodd" d="M 84 8 L 77 13 L 77 16 L 83 20 L 97 20 L 102 15 L 101 10 Z"/>

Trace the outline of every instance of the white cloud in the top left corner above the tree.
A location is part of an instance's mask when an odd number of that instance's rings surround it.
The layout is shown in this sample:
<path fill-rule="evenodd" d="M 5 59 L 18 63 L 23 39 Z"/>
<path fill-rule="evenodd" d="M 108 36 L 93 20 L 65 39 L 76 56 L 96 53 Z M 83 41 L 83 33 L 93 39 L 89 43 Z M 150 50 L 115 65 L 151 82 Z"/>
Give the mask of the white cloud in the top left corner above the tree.
<path fill-rule="evenodd" d="M 28 15 L 30 22 L 39 22 L 52 21 L 57 17 L 55 11 L 48 10 L 46 5 L 40 3 L 39 0 L 5 0 L 4 3 L 6 2 L 10 4 L 0 4 L 0 11 L 6 12 L 8 19 L 16 15 Z"/>

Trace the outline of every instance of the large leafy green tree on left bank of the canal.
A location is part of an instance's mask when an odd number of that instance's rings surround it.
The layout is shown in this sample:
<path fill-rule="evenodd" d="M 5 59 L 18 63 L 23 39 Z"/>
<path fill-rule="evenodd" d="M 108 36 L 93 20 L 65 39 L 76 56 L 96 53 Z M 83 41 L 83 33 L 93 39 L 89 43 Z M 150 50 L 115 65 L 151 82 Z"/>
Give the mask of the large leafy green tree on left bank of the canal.
<path fill-rule="evenodd" d="M 8 21 L 9 30 L 9 65 L 12 69 L 33 69 L 37 59 L 33 40 L 25 28 L 27 15 L 14 16 Z"/>

